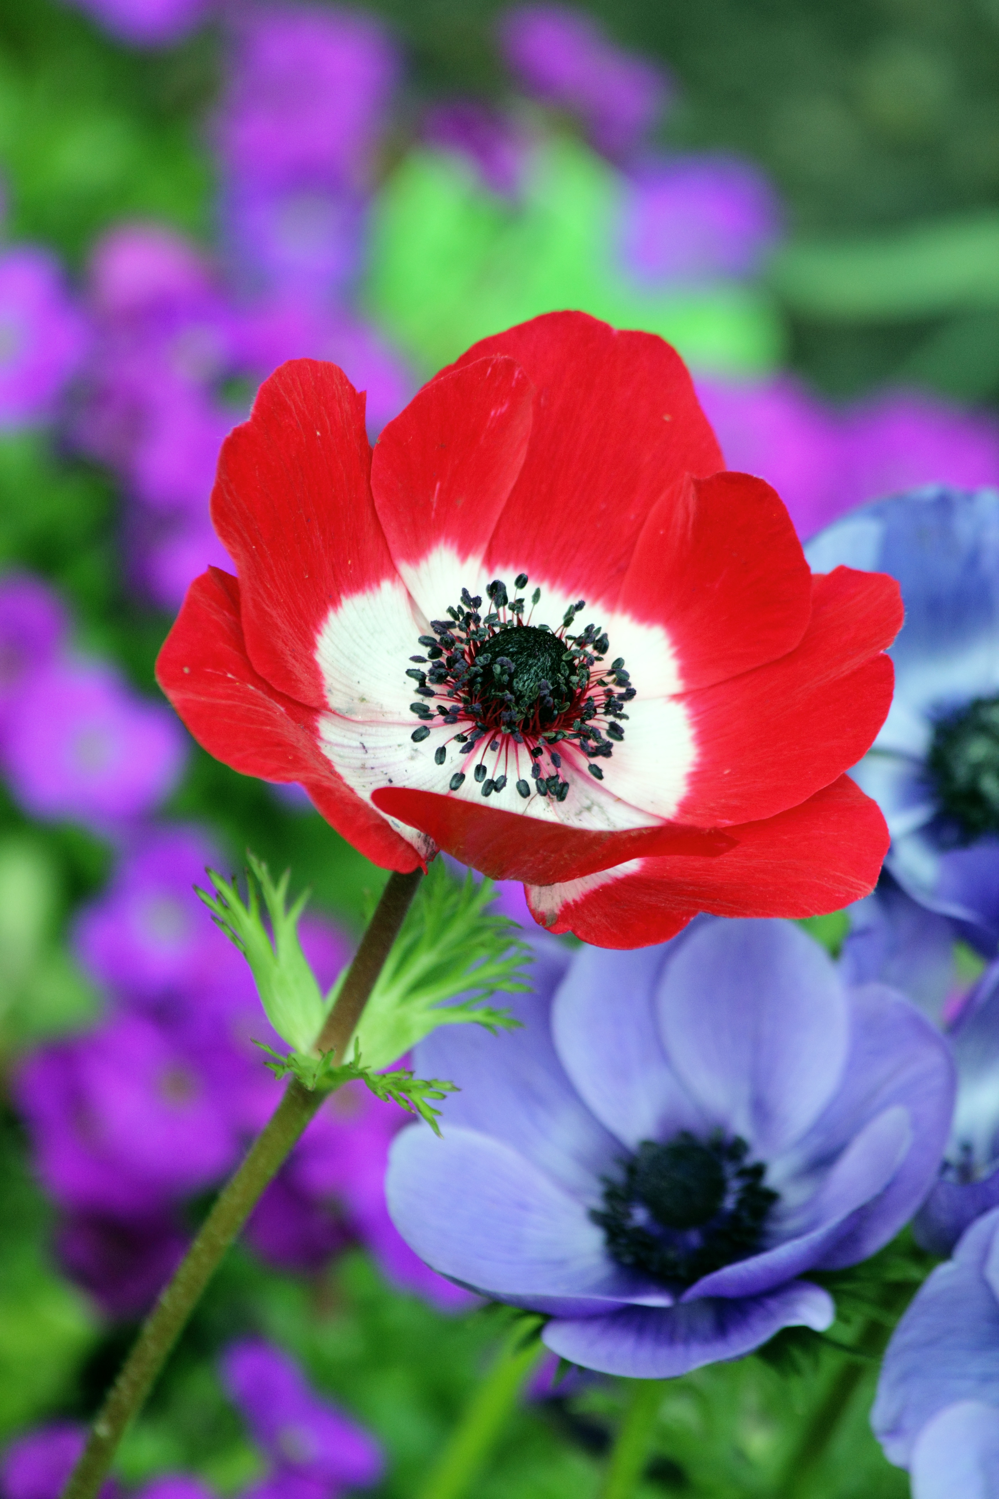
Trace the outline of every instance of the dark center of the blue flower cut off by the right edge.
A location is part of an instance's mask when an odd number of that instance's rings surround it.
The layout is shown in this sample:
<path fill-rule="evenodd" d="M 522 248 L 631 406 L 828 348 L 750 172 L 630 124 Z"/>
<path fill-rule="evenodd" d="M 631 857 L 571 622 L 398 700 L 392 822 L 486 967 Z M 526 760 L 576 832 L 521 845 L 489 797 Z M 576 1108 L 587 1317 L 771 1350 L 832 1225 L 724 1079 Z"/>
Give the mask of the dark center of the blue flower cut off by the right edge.
<path fill-rule="evenodd" d="M 999 697 L 977 697 L 942 718 L 926 764 L 962 842 L 999 832 Z"/>

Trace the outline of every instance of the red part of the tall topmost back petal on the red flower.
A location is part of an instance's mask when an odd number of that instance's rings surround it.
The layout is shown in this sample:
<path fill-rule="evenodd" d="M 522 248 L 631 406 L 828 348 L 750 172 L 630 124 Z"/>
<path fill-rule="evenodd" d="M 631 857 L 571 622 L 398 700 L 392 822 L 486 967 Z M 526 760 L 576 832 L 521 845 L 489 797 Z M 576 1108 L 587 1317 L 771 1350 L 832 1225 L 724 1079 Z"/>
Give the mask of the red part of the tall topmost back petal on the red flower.
<path fill-rule="evenodd" d="M 482 339 L 457 367 L 508 354 L 535 387 L 527 457 L 490 544 L 523 570 L 613 604 L 652 507 L 725 466 L 680 355 L 652 333 L 550 312 Z"/>

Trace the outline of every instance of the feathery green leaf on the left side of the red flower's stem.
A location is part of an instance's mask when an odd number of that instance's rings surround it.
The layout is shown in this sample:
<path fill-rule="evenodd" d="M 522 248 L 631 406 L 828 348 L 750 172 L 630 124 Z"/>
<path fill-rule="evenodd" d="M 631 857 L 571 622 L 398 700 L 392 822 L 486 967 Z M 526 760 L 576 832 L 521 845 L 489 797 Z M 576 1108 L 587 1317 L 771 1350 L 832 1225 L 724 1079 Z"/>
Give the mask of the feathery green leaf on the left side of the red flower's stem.
<path fill-rule="evenodd" d="M 253 970 L 261 1004 L 277 1034 L 300 1052 L 309 1052 L 327 1018 L 327 1003 L 298 940 L 298 919 L 309 890 L 294 905 L 286 904 L 291 871 L 277 883 L 262 859 L 247 853 L 247 898 L 235 880 L 208 869 L 214 895 L 198 890 L 216 923 L 240 949 Z M 271 931 L 261 911 L 261 895 Z"/>

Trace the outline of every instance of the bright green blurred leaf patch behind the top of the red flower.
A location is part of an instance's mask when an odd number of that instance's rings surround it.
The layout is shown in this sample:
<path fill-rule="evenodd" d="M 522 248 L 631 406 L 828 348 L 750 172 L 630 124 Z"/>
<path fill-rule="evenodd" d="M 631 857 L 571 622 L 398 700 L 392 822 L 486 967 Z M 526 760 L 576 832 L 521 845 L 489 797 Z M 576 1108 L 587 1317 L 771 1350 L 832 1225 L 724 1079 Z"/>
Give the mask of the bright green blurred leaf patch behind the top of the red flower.
<path fill-rule="evenodd" d="M 427 372 L 562 307 L 659 333 L 702 370 L 771 369 L 783 330 L 765 294 L 737 282 L 656 292 L 625 274 L 623 192 L 622 177 L 568 136 L 535 150 L 517 202 L 451 156 L 412 151 L 374 205 L 370 313 Z"/>

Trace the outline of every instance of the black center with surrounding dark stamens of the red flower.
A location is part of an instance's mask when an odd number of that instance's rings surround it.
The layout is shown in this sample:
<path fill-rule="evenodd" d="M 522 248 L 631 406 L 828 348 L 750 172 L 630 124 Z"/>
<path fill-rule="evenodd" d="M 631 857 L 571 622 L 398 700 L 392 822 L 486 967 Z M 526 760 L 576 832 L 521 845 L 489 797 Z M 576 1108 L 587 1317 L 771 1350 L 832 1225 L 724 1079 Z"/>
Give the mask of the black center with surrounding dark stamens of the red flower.
<path fill-rule="evenodd" d="M 554 796 L 565 800 L 569 782 L 562 772 L 566 750 L 587 761 L 598 781 L 604 770 L 598 760 L 610 760 L 614 745 L 625 738 L 625 703 L 635 688 L 619 657 L 604 666 L 610 640 L 599 625 L 571 634 L 575 616 L 586 600 L 571 604 L 559 630 L 533 624 L 541 589 L 526 600 L 517 592 L 527 586 L 527 574 L 515 579 L 514 598 L 496 579 L 487 588 L 490 607 L 481 613 L 482 600 L 461 589 L 461 603 L 448 609 L 448 619 L 433 619 L 433 636 L 421 636 L 425 655 L 410 657 L 407 670 L 421 702 L 410 703 L 419 720 L 412 739 L 430 738 L 430 726 L 457 732 L 434 751 L 437 764 L 455 747 L 458 769 L 449 779 L 457 791 L 472 767 L 482 796 L 502 791 L 515 781 L 517 791 L 529 797 Z M 620 691 L 616 691 L 620 688 Z M 431 700 L 433 703 L 431 708 Z M 496 760 L 488 764 L 485 752 Z M 547 766 L 544 760 L 547 758 Z"/>

